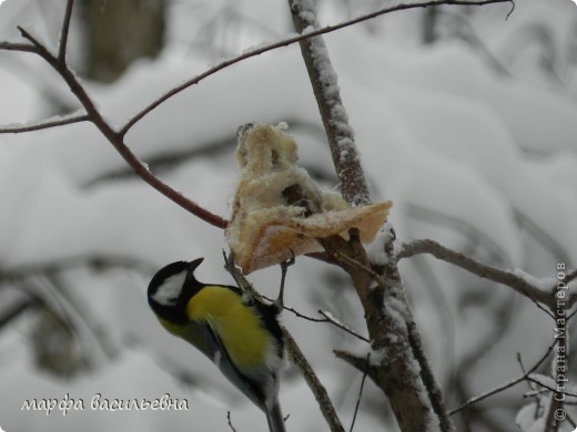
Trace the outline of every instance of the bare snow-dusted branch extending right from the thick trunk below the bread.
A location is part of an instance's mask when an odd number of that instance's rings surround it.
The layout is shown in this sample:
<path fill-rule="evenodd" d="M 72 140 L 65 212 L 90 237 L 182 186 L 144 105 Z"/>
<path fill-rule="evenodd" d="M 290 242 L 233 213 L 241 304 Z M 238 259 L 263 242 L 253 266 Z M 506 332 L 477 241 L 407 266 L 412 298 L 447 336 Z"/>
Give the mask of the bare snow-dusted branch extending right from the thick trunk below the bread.
<path fill-rule="evenodd" d="M 408 258 L 418 254 L 431 254 L 437 259 L 454 264 L 482 278 L 506 285 L 527 298 L 546 305 L 551 310 L 556 308 L 555 287 L 551 287 L 550 290 L 539 289 L 539 287 L 529 284 L 514 272 L 482 264 L 434 240 L 423 239 L 405 243 L 397 254 L 397 259 Z M 569 292 L 567 299 L 568 307 L 570 308 L 576 301 L 577 291 Z"/>

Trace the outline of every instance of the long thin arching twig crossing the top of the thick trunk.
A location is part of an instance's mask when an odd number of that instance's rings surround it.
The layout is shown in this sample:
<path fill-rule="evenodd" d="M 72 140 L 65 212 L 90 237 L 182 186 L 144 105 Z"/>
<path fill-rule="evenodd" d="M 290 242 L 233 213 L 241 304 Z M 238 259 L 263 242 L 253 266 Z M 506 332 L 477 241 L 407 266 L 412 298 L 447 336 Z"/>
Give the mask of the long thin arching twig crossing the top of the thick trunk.
<path fill-rule="evenodd" d="M 256 56 L 256 55 L 261 55 L 261 54 L 263 54 L 263 53 L 265 53 L 267 51 L 276 50 L 276 49 L 283 48 L 283 47 L 288 47 L 288 45 L 292 45 L 293 43 L 304 41 L 304 40 L 313 38 L 315 35 L 331 33 L 331 32 L 334 32 L 336 30 L 341 30 L 341 29 L 344 29 L 346 27 L 354 25 L 354 24 L 356 24 L 358 22 L 372 20 L 372 19 L 374 19 L 376 17 L 379 17 L 379 16 L 383 16 L 383 14 L 386 14 L 386 13 L 402 11 L 402 10 L 416 9 L 416 8 L 427 8 L 427 7 L 437 6 L 437 4 L 485 6 L 485 4 L 492 4 L 492 3 L 510 3 L 513 7 L 512 7 L 512 10 L 509 11 L 509 13 L 507 14 L 507 17 L 515 9 L 515 2 L 513 0 L 473 0 L 473 1 L 466 1 L 466 0 L 441 0 L 441 1 L 438 1 L 437 0 L 437 1 L 425 1 L 425 2 L 422 2 L 422 3 L 397 4 L 397 6 L 394 6 L 394 7 L 391 7 L 391 8 L 384 8 L 384 9 L 377 10 L 375 12 L 371 12 L 371 13 L 357 17 L 357 18 L 348 20 L 348 21 L 341 22 L 341 23 L 335 24 L 335 25 L 327 25 L 327 27 L 323 27 L 321 29 L 315 29 L 313 31 L 307 31 L 304 34 L 298 34 L 298 35 L 295 35 L 295 37 L 286 38 L 284 40 L 279 41 L 279 42 L 274 42 L 274 43 L 271 43 L 269 45 L 265 45 L 265 47 L 262 47 L 262 48 L 259 48 L 259 49 L 245 52 L 243 54 L 236 55 L 236 56 L 234 56 L 232 59 L 225 60 L 222 63 L 219 63 L 215 66 L 206 70 L 205 72 L 203 72 L 203 73 L 201 73 L 201 74 L 199 74 L 199 75 L 196 75 L 196 76 L 194 76 L 194 78 L 183 82 L 182 84 L 180 84 L 180 85 L 175 86 L 174 89 L 168 91 L 165 94 L 163 94 L 162 96 L 160 96 L 159 99 L 156 99 L 155 101 L 150 103 L 142 111 L 140 111 L 138 114 L 135 114 L 132 119 L 130 119 L 124 124 L 124 126 L 122 126 L 120 128 L 119 133 L 121 135 L 126 134 L 129 132 L 129 130 L 132 126 L 134 126 L 134 124 L 136 124 L 139 121 L 141 121 L 148 114 L 150 114 L 150 112 L 152 112 L 156 106 L 159 106 L 162 103 L 166 102 L 169 99 L 171 99 L 175 94 L 182 92 L 183 90 L 186 90 L 188 88 L 200 83 L 202 80 L 204 80 L 204 79 L 215 74 L 216 72 L 219 72 L 219 71 L 221 71 L 221 70 L 223 70 L 225 68 L 229 68 L 229 66 L 231 66 L 231 65 L 233 65 L 235 63 L 239 63 L 239 62 L 241 62 L 243 60 L 246 60 L 246 59 L 250 59 L 250 58 L 253 58 L 253 56 Z"/>

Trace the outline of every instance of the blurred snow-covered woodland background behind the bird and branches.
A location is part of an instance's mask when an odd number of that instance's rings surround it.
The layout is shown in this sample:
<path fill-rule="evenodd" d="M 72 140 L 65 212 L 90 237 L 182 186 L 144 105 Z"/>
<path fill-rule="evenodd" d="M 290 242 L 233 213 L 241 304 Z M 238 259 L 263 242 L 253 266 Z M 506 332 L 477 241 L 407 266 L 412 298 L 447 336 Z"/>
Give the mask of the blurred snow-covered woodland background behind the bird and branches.
<path fill-rule="evenodd" d="M 24 24 L 53 45 L 63 2 L 51 2 L 54 8 L 8 0 L 0 9 L 0 41 L 17 41 L 14 28 Z M 240 20 L 244 24 L 232 30 L 219 21 L 225 2 L 210 4 L 175 2 L 160 59 L 138 62 L 112 85 L 85 83 L 107 119 L 122 124 L 217 62 L 191 42 L 206 17 L 222 27 L 212 52 L 219 48 L 226 55 L 292 31 L 283 2 L 239 2 L 240 17 L 260 24 Z M 322 3 L 321 21 L 343 20 L 345 9 Z M 442 39 L 433 45 L 419 42 L 422 10 L 330 34 L 326 43 L 373 198 L 394 202 L 389 219 L 398 241 L 432 238 L 487 264 L 551 277 L 558 263 L 577 261 L 577 7 L 518 0 L 505 20 L 509 9 L 445 8 Z M 54 100 L 71 101 L 53 72 L 24 53 L 0 52 L 0 124 L 42 119 L 53 114 Z M 297 47 L 250 59 L 176 95 L 138 123 L 128 143 L 171 186 L 227 217 L 235 131 L 250 121 L 287 122 L 302 166 L 326 187 L 336 186 Z M 52 311 L 29 308 L 0 327 L 0 426 L 227 431 L 230 410 L 237 431 L 264 431 L 264 415 L 199 352 L 165 333 L 145 301 L 154 270 L 173 260 L 204 256 L 199 278 L 231 282 L 222 269 L 224 247 L 221 230 L 130 175 L 90 124 L 0 135 L 0 313 L 29 298 Z M 550 319 L 509 289 L 433 258 L 402 261 L 402 270 L 449 408 L 522 373 L 517 353 L 530 367 L 550 344 Z M 280 270 L 251 279 L 274 297 Z M 285 301 L 314 317 L 328 310 L 363 331 L 354 292 L 327 265 L 297 259 Z M 366 347 L 326 323 L 290 312 L 283 321 L 348 425 L 362 377 L 331 350 Z M 52 356 L 68 358 L 77 373 L 59 378 L 39 369 L 43 341 L 68 347 Z M 475 414 L 489 425 L 473 423 L 473 430 L 515 430 L 527 390 L 522 383 L 480 404 Z M 26 400 L 62 400 L 67 393 L 84 400 L 85 410 L 21 410 Z M 186 399 L 190 410 L 92 411 L 97 393 L 149 400 L 170 393 Z M 293 369 L 281 402 L 291 414 L 288 430 L 324 430 Z M 367 383 L 355 430 L 379 426 L 384 404 Z"/>

